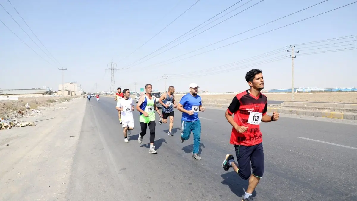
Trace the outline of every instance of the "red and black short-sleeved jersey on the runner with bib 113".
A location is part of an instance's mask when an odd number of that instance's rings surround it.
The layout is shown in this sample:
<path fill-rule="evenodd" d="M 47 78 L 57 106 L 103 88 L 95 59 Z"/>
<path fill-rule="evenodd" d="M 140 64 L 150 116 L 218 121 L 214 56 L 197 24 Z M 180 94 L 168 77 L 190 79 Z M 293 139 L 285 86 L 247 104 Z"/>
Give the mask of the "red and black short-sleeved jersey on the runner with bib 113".
<path fill-rule="evenodd" d="M 267 97 L 260 94 L 258 97 L 250 94 L 248 90 L 237 94 L 227 111 L 229 114 L 234 114 L 234 121 L 238 126 L 249 127 L 245 133 L 239 133 L 235 128 L 232 128 L 230 143 L 243 146 L 253 146 L 261 143 L 262 133 L 260 132 L 259 124 L 249 124 L 248 117 L 251 112 L 259 112 L 264 116 L 267 112 Z"/>

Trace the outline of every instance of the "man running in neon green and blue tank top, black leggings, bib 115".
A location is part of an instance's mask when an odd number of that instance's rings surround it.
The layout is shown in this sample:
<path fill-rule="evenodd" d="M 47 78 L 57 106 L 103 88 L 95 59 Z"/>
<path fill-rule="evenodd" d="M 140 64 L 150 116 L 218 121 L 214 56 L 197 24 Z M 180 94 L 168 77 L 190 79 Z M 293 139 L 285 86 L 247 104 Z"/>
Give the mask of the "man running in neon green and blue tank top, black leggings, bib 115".
<path fill-rule="evenodd" d="M 160 110 L 156 107 L 155 98 L 152 97 L 152 85 L 145 85 L 146 94 L 142 95 L 139 102 L 136 104 L 136 110 L 140 112 L 140 127 L 141 132 L 139 133 L 139 138 L 137 141 L 141 144 L 142 137 L 146 134 L 146 128 L 149 126 L 150 131 L 150 149 L 149 153 L 156 154 L 154 140 L 155 140 L 155 111 L 161 116 Z M 155 111 L 154 111 L 155 108 Z"/>

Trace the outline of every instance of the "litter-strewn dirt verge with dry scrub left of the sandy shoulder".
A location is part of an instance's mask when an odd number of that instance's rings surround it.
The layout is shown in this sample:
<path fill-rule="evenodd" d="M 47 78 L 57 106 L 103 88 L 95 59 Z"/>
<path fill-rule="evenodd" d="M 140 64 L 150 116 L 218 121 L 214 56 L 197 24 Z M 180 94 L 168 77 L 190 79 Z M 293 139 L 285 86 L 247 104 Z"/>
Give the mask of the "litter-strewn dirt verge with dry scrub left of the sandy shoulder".
<path fill-rule="evenodd" d="M 19 97 L 19 100 L 3 100 L 0 101 L 0 118 L 18 118 L 25 114 L 31 113 L 32 109 L 41 107 L 50 107 L 56 103 L 69 101 L 69 97 Z M 26 104 L 30 108 L 26 108 Z"/>

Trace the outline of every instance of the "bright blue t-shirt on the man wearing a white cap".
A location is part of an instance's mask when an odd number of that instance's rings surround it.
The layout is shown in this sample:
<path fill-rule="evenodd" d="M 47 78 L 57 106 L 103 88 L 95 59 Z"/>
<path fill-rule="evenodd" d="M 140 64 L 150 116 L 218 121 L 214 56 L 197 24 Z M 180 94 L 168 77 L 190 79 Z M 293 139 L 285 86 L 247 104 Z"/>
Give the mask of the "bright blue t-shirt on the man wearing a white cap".
<path fill-rule="evenodd" d="M 202 99 L 199 95 L 193 96 L 191 93 L 188 93 L 181 98 L 180 104 L 183 106 L 183 109 L 194 112 L 192 115 L 183 112 L 181 121 L 191 122 L 198 120 L 198 108 L 202 105 Z"/>

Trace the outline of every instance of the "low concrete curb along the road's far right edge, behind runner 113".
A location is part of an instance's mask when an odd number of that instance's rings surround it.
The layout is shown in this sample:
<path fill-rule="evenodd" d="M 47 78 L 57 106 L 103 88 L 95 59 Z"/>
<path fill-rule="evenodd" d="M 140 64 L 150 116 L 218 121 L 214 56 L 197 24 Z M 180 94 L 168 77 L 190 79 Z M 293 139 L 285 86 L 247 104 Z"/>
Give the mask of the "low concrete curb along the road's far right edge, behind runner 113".
<path fill-rule="evenodd" d="M 216 104 L 216 103 L 202 103 L 203 106 L 228 108 L 229 104 Z M 287 109 L 287 108 L 269 108 L 267 112 L 278 112 L 282 114 L 297 114 L 301 116 L 310 117 L 323 117 L 330 119 L 347 119 L 357 120 L 357 114 L 355 113 L 343 113 L 343 112 L 322 112 L 303 109 Z"/>

